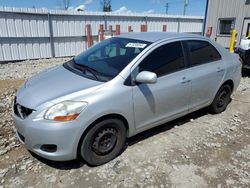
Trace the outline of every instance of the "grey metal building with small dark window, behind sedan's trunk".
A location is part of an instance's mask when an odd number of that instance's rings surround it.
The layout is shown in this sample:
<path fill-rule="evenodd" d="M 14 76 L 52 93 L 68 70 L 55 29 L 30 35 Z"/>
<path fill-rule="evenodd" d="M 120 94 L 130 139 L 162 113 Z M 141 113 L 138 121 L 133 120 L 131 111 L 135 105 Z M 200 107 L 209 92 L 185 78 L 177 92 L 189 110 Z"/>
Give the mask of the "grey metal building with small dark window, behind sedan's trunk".
<path fill-rule="evenodd" d="M 231 31 L 237 43 L 250 32 L 250 0 L 207 0 L 206 35 L 229 48 Z"/>

